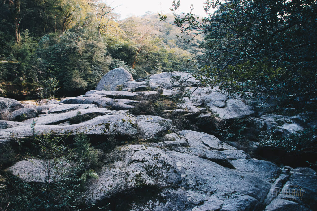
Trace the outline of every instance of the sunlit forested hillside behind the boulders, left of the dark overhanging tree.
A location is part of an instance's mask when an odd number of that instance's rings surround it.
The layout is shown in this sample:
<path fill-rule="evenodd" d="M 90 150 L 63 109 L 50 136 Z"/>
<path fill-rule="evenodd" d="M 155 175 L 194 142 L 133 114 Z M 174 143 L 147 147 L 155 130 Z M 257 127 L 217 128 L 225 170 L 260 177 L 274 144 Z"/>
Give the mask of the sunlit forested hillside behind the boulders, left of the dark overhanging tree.
<path fill-rule="evenodd" d="M 0 96 L 36 99 L 94 89 L 107 71 L 135 78 L 188 71 L 202 36 L 187 45 L 157 14 L 119 20 L 98 0 L 7 0 L 0 4 Z"/>

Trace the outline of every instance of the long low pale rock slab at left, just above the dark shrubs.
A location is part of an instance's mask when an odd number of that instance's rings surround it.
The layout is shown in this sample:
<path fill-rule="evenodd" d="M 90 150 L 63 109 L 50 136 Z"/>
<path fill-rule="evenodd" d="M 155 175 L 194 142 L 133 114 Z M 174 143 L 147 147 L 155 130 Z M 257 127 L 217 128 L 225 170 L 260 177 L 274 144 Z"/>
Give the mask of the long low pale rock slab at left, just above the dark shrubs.
<path fill-rule="evenodd" d="M 81 115 L 97 115 L 97 117 L 93 116 L 92 119 L 74 124 L 67 122 L 76 118 L 76 116 L 78 117 L 78 112 L 81 112 Z M 36 122 L 34 131 L 31 130 L 33 120 Z M 6 127 L 5 123 L 3 122 L 3 127 Z M 128 114 L 127 110 L 110 111 L 104 108 L 89 108 L 41 115 L 24 121 L 22 125 L 0 129 L 0 139 L 10 138 L 11 134 L 15 134 L 16 138 L 31 137 L 34 133 L 71 135 L 85 133 L 87 135 L 99 135 L 100 137 L 109 135 L 133 137 L 140 133 L 144 138 L 149 138 L 167 131 L 170 127 L 171 120 L 159 116 L 133 116 Z"/>

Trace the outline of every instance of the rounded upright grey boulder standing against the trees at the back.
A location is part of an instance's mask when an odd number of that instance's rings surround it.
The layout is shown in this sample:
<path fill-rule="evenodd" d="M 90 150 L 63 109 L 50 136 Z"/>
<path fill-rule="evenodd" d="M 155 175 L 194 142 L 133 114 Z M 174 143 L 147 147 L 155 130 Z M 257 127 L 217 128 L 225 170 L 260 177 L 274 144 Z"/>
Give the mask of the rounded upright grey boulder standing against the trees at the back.
<path fill-rule="evenodd" d="M 118 85 L 133 81 L 131 73 L 124 68 L 115 68 L 105 74 L 96 86 L 96 90 L 116 90 Z"/>

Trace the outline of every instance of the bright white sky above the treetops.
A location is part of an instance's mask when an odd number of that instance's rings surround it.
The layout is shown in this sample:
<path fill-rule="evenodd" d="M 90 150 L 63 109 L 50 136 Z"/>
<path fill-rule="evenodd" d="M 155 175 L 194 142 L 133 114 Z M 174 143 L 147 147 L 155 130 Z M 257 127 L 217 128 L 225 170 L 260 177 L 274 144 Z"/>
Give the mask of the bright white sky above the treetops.
<path fill-rule="evenodd" d="M 172 0 L 109 0 L 112 7 L 116 7 L 115 12 L 121 15 L 120 19 L 135 15 L 142 16 L 147 11 L 154 13 L 162 11 L 163 14 L 171 12 L 169 8 L 172 6 Z M 177 0 L 176 0 L 177 2 Z M 204 15 L 203 9 L 205 0 L 180 0 L 179 12 L 189 12 L 190 6 L 193 4 L 193 13 L 196 15 Z"/>

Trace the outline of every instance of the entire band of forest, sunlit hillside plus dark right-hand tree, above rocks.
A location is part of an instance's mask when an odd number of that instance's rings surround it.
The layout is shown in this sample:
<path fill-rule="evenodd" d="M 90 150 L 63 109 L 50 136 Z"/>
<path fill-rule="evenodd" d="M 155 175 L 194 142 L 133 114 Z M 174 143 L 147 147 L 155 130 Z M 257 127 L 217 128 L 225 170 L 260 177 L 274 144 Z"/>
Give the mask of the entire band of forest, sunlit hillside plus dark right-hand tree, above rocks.
<path fill-rule="evenodd" d="M 200 17 L 178 13 L 180 4 L 172 2 L 174 15 L 120 21 L 103 0 L 3 1 L 0 95 L 75 96 L 124 67 L 134 78 L 191 72 L 232 95 L 312 109 L 315 1 L 207 0 Z"/>

